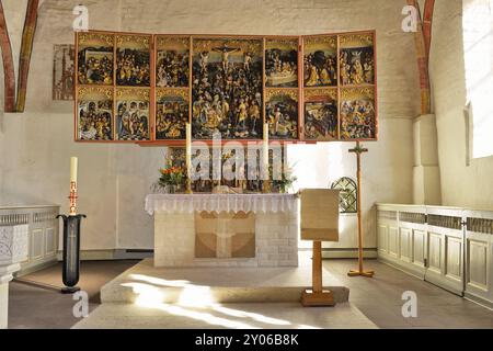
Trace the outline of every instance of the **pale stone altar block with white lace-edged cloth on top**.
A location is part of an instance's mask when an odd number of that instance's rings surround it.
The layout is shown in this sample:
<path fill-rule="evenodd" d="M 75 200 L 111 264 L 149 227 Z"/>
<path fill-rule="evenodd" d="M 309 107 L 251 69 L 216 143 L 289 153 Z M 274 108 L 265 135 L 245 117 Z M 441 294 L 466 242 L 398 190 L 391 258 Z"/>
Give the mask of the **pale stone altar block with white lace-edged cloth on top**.
<path fill-rule="evenodd" d="M 294 194 L 150 194 L 154 267 L 297 267 Z"/>

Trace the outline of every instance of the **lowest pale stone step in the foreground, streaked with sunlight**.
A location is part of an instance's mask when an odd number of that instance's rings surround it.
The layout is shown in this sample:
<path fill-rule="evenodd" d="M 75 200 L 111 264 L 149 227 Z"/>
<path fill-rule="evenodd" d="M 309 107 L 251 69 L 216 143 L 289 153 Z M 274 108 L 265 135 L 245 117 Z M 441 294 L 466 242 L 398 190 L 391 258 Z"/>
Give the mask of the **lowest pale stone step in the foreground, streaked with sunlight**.
<path fill-rule="evenodd" d="M 299 303 L 246 303 L 184 306 L 175 304 L 107 304 L 74 329 L 375 329 L 349 303 L 303 308 Z"/>

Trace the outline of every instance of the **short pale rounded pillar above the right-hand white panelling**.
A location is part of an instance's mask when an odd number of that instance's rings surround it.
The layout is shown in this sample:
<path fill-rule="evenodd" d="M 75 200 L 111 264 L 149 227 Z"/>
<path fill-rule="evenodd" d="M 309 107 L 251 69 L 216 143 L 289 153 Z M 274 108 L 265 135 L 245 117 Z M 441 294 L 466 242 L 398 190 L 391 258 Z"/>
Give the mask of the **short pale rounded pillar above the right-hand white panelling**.
<path fill-rule="evenodd" d="M 438 143 L 434 114 L 419 116 L 413 124 L 413 201 L 417 205 L 440 205 L 442 188 Z"/>

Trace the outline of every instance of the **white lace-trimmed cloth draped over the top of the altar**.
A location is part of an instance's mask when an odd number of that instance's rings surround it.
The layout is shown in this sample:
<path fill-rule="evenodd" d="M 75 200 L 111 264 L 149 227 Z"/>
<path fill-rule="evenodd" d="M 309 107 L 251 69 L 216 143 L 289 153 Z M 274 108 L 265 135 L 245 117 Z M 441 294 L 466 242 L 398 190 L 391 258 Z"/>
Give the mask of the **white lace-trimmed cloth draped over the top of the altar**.
<path fill-rule="evenodd" d="M 293 212 L 298 211 L 295 194 L 150 194 L 146 212 Z"/>

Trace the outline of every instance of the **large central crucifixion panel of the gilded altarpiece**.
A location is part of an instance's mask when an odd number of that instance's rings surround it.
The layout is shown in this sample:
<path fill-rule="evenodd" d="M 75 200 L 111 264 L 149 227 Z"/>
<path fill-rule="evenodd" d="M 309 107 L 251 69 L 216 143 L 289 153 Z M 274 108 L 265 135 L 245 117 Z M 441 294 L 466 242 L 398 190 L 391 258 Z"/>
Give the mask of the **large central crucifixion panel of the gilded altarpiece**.
<path fill-rule="evenodd" d="M 260 38 L 193 38 L 194 138 L 262 138 L 262 47 Z"/>

